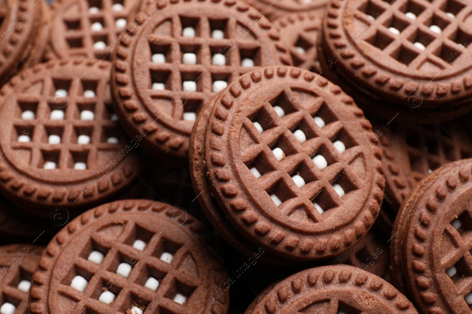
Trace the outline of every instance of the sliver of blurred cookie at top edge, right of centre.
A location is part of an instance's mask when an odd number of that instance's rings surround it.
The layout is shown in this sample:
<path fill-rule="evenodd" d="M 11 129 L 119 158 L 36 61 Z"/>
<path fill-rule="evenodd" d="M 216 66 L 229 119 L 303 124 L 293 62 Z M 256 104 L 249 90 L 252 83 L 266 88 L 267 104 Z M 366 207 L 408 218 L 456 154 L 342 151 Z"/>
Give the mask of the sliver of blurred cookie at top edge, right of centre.
<path fill-rule="evenodd" d="M 324 10 L 328 0 L 244 0 L 244 2 L 260 10 L 271 21 L 293 12 L 305 12 L 315 9 Z"/>

